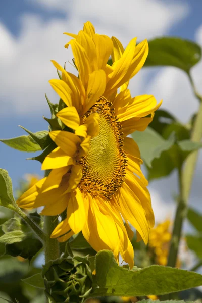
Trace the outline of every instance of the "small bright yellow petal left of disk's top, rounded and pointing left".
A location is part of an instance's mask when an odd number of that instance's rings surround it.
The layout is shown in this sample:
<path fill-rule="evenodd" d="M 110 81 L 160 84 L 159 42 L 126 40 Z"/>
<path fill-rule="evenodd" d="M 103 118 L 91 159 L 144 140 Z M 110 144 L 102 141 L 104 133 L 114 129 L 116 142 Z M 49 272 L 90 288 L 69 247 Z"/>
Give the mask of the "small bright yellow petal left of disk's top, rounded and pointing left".
<path fill-rule="evenodd" d="M 62 109 L 56 114 L 61 121 L 72 129 L 77 129 L 80 125 L 80 118 L 74 106 Z"/>

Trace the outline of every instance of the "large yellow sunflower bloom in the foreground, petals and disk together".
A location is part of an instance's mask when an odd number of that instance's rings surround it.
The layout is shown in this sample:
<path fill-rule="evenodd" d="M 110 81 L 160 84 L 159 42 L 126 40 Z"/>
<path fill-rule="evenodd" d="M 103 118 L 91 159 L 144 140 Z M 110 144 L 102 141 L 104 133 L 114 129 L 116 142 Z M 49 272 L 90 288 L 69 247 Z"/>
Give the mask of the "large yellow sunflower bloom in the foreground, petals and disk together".
<path fill-rule="evenodd" d="M 145 130 L 161 104 L 152 95 L 132 98 L 128 89 L 146 60 L 148 43 L 136 46 L 134 38 L 124 49 L 117 38 L 96 34 L 90 22 L 78 35 L 65 34 L 72 37 L 65 47 L 72 48 L 78 77 L 52 61 L 62 79 L 49 81 L 66 105 L 57 113 L 64 128 L 49 132 L 58 147 L 42 169 L 51 173 L 17 203 L 25 209 L 45 206 L 46 216 L 66 211 L 52 238 L 63 242 L 82 231 L 96 251 L 109 249 L 117 260 L 120 252 L 132 268 L 129 223 L 145 243 L 154 226 L 139 148 L 127 137 Z"/>

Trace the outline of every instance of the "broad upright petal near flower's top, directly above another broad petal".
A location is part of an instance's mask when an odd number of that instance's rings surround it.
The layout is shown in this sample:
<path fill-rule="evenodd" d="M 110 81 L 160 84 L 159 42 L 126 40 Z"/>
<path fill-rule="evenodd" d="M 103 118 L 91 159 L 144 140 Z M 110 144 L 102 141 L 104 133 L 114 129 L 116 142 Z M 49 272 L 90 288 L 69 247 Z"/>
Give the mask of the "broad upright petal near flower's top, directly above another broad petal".
<path fill-rule="evenodd" d="M 96 47 L 98 69 L 104 69 L 112 53 L 112 40 L 105 35 L 93 35 L 93 41 Z"/>

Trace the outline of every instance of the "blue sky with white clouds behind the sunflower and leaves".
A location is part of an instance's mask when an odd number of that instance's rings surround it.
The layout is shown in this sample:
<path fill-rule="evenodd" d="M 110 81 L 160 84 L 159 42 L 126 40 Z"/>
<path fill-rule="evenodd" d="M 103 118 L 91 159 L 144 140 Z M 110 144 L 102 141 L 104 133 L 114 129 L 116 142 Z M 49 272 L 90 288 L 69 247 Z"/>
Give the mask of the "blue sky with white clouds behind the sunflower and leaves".
<path fill-rule="evenodd" d="M 77 33 L 90 20 L 96 32 L 116 36 L 123 45 L 133 37 L 138 41 L 158 36 L 180 36 L 202 45 L 202 2 L 200 0 L 2 0 L 0 2 L 0 138 L 23 135 L 18 125 L 35 132 L 47 129 L 42 116 L 49 117 L 46 92 L 52 102 L 57 96 L 48 80 L 57 78 L 51 59 L 61 65 L 71 61 L 64 48 L 65 31 Z M 202 93 L 202 64 L 192 74 Z M 72 66 L 67 65 L 69 71 Z M 130 84 L 131 94 L 154 94 L 169 110 L 186 123 L 197 111 L 187 76 L 172 67 L 143 69 Z M 0 167 L 7 169 L 14 188 L 25 173 L 42 176 L 40 163 L 25 160 L 32 155 L 0 145 Z M 200 209 L 200 155 L 191 193 L 192 206 Z M 156 220 L 172 216 L 176 174 L 149 185 Z"/>

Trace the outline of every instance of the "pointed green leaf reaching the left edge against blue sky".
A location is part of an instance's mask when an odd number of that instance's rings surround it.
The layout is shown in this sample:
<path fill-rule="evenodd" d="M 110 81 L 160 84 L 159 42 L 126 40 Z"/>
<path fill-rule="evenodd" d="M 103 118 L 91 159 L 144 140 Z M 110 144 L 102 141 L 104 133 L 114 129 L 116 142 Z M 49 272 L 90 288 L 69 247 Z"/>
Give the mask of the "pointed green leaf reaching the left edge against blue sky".
<path fill-rule="evenodd" d="M 36 132 L 35 135 L 37 136 L 38 133 Z M 33 153 L 34 151 L 41 150 L 41 147 L 38 143 L 29 135 L 29 136 L 20 136 L 11 139 L 0 139 L 1 142 L 12 147 L 14 149 L 20 151 L 26 151 L 27 153 Z"/>

